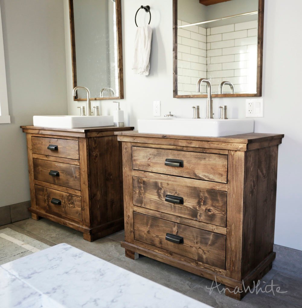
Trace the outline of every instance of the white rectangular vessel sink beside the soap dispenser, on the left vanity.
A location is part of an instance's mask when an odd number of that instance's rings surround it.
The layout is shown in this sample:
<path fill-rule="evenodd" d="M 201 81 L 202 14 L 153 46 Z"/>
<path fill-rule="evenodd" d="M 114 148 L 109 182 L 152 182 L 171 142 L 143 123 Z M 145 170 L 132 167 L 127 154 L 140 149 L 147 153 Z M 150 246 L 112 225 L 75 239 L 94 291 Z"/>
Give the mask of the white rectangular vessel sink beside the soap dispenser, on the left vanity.
<path fill-rule="evenodd" d="M 34 115 L 34 126 L 79 128 L 113 126 L 112 115 Z"/>

